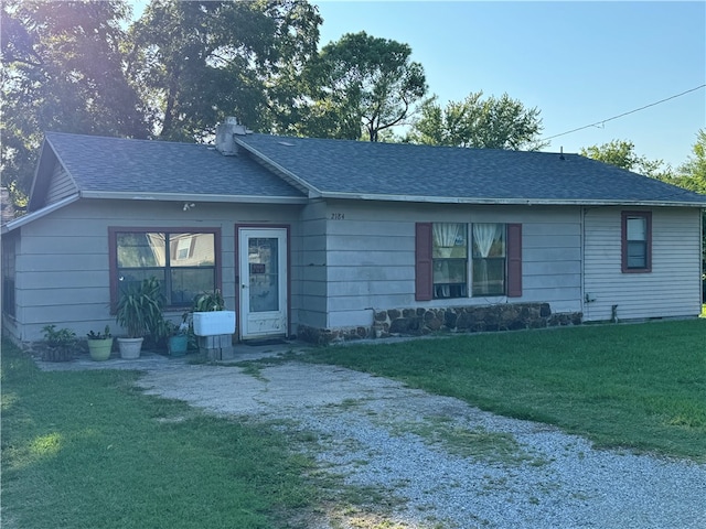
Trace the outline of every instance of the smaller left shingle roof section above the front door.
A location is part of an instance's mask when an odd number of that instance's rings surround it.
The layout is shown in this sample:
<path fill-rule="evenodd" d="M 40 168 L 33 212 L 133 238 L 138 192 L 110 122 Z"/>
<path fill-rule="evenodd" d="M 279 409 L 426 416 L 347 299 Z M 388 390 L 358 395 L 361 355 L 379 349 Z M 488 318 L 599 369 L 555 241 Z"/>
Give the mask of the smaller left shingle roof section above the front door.
<path fill-rule="evenodd" d="M 81 192 L 302 197 L 249 155 L 195 143 L 47 132 Z"/>

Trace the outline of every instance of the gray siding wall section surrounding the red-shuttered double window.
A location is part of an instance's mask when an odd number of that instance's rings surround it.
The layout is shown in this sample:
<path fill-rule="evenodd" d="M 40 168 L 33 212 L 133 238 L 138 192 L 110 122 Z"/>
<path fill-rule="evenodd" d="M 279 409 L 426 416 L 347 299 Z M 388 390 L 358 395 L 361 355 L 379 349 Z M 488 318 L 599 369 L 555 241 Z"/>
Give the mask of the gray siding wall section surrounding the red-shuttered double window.
<path fill-rule="evenodd" d="M 580 208 L 330 202 L 327 326 L 370 326 L 374 310 L 521 301 L 581 310 Z M 415 301 L 415 223 L 521 223 L 523 296 Z"/>

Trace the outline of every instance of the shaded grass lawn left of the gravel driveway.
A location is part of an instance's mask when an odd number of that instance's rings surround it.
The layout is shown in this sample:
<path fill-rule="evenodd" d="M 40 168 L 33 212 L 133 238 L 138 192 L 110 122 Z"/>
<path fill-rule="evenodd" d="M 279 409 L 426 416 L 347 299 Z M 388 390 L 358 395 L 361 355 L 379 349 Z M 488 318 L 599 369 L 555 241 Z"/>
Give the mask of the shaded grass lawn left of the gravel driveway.
<path fill-rule="evenodd" d="M 292 527 L 315 504 L 284 433 L 146 396 L 137 376 L 42 373 L 3 343 L 3 527 Z"/>

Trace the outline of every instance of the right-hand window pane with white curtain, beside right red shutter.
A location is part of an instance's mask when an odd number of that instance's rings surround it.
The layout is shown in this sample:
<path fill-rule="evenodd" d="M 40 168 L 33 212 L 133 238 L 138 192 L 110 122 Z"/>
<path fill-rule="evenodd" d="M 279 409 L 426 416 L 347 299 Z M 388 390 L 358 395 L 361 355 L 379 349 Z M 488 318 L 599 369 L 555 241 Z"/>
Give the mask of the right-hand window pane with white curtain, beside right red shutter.
<path fill-rule="evenodd" d="M 474 223 L 472 240 L 472 294 L 505 294 L 505 225 Z"/>

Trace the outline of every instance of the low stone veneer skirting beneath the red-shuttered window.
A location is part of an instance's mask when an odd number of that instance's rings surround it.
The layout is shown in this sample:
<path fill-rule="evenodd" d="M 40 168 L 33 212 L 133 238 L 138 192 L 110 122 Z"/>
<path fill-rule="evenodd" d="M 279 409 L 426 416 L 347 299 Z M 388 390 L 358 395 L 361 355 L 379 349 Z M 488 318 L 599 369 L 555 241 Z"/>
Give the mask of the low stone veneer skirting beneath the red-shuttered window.
<path fill-rule="evenodd" d="M 299 339 L 330 344 L 349 339 L 421 336 L 431 333 L 480 333 L 580 325 L 582 314 L 552 314 L 548 303 L 505 303 L 443 309 L 375 311 L 371 327 L 314 328 L 300 325 Z"/>

